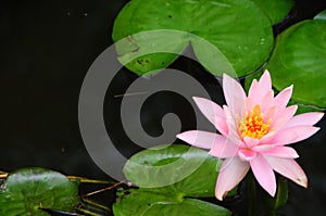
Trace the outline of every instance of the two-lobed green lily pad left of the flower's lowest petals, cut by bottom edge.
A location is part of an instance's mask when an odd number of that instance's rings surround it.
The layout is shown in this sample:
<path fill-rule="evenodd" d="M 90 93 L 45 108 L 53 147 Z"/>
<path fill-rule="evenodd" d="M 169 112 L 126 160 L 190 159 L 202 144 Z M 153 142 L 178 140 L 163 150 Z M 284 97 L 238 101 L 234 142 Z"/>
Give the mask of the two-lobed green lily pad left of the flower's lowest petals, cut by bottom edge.
<path fill-rule="evenodd" d="M 140 186 L 117 193 L 115 216 L 220 216 L 228 209 L 189 196 L 214 196 L 222 161 L 183 144 L 143 150 L 126 163 L 127 180 Z"/>

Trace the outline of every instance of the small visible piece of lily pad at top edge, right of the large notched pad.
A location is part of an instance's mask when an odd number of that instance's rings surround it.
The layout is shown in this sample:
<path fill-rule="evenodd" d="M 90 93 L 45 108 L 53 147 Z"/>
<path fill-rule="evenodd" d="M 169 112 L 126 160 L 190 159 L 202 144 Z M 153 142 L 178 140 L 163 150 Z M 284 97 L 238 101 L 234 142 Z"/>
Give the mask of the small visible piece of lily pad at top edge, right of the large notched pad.
<path fill-rule="evenodd" d="M 271 18 L 273 24 L 277 24 L 294 5 L 293 0 L 252 0 L 255 2 Z"/>

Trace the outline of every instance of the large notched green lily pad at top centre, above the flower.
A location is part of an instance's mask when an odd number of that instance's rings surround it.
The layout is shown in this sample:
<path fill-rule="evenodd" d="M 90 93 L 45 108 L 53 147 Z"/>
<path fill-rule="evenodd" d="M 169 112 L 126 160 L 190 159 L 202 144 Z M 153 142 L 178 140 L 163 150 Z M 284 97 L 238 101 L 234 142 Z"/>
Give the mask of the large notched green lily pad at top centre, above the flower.
<path fill-rule="evenodd" d="M 274 42 L 269 18 L 250 0 L 133 0 L 116 17 L 112 38 L 122 40 L 118 60 L 138 75 L 165 68 L 191 43 L 213 75 L 244 76 L 267 60 Z"/>

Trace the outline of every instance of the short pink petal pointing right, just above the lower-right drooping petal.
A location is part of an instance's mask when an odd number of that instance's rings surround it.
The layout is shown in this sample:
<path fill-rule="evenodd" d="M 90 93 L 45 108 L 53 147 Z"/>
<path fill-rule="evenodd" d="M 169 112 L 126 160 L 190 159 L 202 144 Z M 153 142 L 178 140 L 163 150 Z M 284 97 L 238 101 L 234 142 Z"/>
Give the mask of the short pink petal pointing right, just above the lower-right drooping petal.
<path fill-rule="evenodd" d="M 299 157 L 297 151 L 290 147 L 274 147 L 274 148 L 253 148 L 253 150 L 260 152 L 263 155 L 275 156 L 275 157 L 286 157 L 286 158 L 297 158 Z"/>

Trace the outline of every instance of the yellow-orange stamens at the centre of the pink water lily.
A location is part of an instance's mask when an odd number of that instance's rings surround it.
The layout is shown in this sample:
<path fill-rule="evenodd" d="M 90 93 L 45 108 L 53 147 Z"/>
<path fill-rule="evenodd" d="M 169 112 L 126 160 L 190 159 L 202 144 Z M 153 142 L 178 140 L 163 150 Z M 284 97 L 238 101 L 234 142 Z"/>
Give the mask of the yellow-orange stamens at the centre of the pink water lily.
<path fill-rule="evenodd" d="M 239 132 L 240 136 L 251 137 L 255 139 L 262 138 L 268 132 L 269 122 L 264 123 L 263 114 L 261 112 L 261 106 L 255 105 L 252 111 L 248 114 L 246 113 L 244 118 L 240 122 Z"/>

